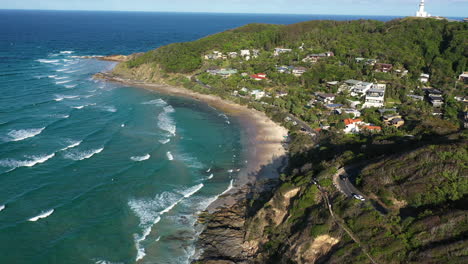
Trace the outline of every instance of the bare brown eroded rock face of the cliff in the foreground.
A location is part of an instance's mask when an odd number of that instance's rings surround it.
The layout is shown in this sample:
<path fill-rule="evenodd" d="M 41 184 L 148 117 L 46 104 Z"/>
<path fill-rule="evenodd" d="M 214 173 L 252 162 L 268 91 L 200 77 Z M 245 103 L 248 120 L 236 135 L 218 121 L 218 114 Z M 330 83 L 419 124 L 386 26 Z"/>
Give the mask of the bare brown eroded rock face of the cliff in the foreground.
<path fill-rule="evenodd" d="M 199 248 L 203 253 L 195 263 L 247 264 L 247 263 L 300 263 L 310 264 L 328 254 L 340 239 L 330 235 L 310 236 L 310 228 L 294 232 L 288 222 L 294 199 L 301 188 L 277 190 L 273 197 L 253 216 L 246 215 L 248 200 L 239 201 L 230 208 L 222 208 L 202 217 L 207 222 L 200 236 Z M 291 234 L 287 248 L 279 258 L 271 259 L 268 244 L 271 230 Z"/>

